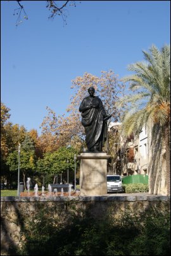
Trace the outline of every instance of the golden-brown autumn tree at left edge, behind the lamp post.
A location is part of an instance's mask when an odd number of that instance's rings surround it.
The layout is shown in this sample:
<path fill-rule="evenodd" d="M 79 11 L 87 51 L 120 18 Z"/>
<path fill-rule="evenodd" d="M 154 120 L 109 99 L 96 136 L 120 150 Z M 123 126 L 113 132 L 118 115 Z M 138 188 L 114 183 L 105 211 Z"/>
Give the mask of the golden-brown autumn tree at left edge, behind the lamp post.
<path fill-rule="evenodd" d="M 35 145 L 32 131 L 23 125 L 8 122 L 9 108 L 1 102 L 1 182 L 7 180 L 8 187 L 16 186 L 18 173 L 18 145 L 22 145 L 20 168 L 25 183 L 25 175 L 35 169 Z M 21 180 L 20 180 L 21 181 Z"/>

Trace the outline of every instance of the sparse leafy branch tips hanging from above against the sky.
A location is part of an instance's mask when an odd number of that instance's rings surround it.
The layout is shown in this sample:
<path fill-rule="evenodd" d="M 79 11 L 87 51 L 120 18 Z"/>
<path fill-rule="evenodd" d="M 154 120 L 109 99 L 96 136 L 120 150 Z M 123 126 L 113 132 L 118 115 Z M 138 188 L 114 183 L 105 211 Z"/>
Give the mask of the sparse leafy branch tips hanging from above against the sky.
<path fill-rule="evenodd" d="M 22 17 L 25 20 L 28 20 L 28 15 L 25 11 L 23 4 L 20 3 L 23 1 L 16 1 L 16 2 L 18 3 L 19 8 L 16 8 L 14 10 L 13 15 L 17 16 L 16 26 L 18 26 L 23 23 Z M 58 4 L 56 2 L 58 2 Z M 59 3 L 59 2 L 64 2 L 64 3 Z M 79 2 L 79 3 L 81 3 L 81 2 Z M 54 18 L 54 17 L 56 17 L 56 15 L 59 15 L 62 17 L 63 22 L 66 25 L 66 18 L 67 18 L 67 14 L 68 14 L 68 10 L 66 9 L 67 5 L 76 7 L 75 1 L 46 1 L 46 8 L 48 8 L 49 11 L 51 11 L 51 14 L 49 15 L 48 18 Z"/>

